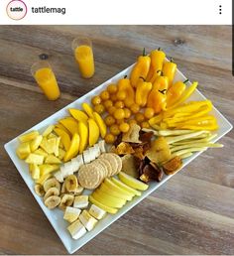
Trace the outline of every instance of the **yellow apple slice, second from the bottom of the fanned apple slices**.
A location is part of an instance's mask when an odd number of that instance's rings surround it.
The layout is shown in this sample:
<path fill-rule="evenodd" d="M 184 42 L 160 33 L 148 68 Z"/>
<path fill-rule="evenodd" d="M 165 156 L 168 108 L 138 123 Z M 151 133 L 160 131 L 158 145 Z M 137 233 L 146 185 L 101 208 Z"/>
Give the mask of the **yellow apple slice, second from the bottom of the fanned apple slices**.
<path fill-rule="evenodd" d="M 92 196 L 94 199 L 100 201 L 101 203 L 109 207 L 121 208 L 126 203 L 126 200 L 124 199 L 114 197 L 99 190 L 93 192 Z"/>

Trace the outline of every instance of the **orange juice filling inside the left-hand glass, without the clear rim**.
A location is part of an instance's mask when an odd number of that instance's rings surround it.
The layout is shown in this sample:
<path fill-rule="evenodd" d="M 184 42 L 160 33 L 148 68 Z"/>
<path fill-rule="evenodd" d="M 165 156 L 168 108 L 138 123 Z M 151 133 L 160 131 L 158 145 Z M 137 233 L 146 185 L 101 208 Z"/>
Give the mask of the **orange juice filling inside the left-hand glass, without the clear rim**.
<path fill-rule="evenodd" d="M 52 68 L 42 67 L 36 70 L 35 79 L 49 100 L 56 100 L 60 95 L 57 78 Z"/>

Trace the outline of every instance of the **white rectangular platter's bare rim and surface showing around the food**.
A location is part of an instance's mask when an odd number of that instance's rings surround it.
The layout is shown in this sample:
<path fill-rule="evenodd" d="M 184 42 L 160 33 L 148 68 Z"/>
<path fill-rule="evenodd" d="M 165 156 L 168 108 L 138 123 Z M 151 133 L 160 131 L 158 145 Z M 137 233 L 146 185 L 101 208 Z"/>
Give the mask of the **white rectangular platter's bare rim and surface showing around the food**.
<path fill-rule="evenodd" d="M 118 74 L 116 74 L 115 76 L 107 80 L 106 82 L 102 83 L 101 85 L 97 86 L 95 89 L 91 90 L 87 94 L 83 95 L 82 97 L 73 101 L 69 105 L 60 109 L 57 113 L 48 117 L 47 119 L 37 124 L 36 126 L 32 127 L 26 132 L 29 132 L 31 130 L 39 130 L 42 132 L 44 131 L 44 129 L 46 129 L 48 125 L 55 124 L 58 121 L 58 119 L 64 116 L 67 116 L 68 108 L 81 109 L 82 102 L 90 102 L 91 97 L 93 95 L 99 94 L 100 91 L 102 91 L 109 83 L 116 82 L 118 79 L 124 77 L 124 75 L 128 75 L 132 67 L 133 65 L 127 67 L 126 69 L 119 72 Z M 186 77 L 179 70 L 177 70 L 175 80 L 185 80 L 185 79 Z M 198 90 L 196 90 L 192 94 L 192 96 L 189 98 L 189 100 L 202 100 L 202 99 L 205 99 L 205 97 Z M 217 109 L 214 108 L 212 110 L 212 114 L 215 115 L 219 124 L 219 130 L 215 131 L 215 133 L 217 133 L 218 136 L 215 138 L 214 141 L 217 141 L 232 129 L 232 125 Z M 124 213 L 126 213 L 128 210 L 134 207 L 137 203 L 139 203 L 142 199 L 144 199 L 148 194 L 156 191 L 159 187 L 161 187 L 164 183 L 166 183 L 169 179 L 173 177 L 173 176 L 165 176 L 161 183 L 152 182 L 150 184 L 149 189 L 146 192 L 143 192 L 140 197 L 135 196 L 132 201 L 128 201 L 116 214 L 114 215 L 108 214 L 102 220 L 98 221 L 97 225 L 92 231 L 87 232 L 79 240 L 73 240 L 69 235 L 68 231 L 66 230 L 66 227 L 68 224 L 65 220 L 63 220 L 62 211 L 59 210 L 58 208 L 54 210 L 48 209 L 43 202 L 43 198 L 41 198 L 39 195 L 36 194 L 36 192 L 34 192 L 34 181 L 31 179 L 31 176 L 29 175 L 28 165 L 25 164 L 24 161 L 20 160 L 15 153 L 17 146 L 18 146 L 18 139 L 15 138 L 12 141 L 5 144 L 5 149 L 8 155 L 10 156 L 12 162 L 15 164 L 18 172 L 20 173 L 25 183 L 27 184 L 28 188 L 33 193 L 36 200 L 38 201 L 41 208 L 43 209 L 44 213 L 48 217 L 49 221 L 57 231 L 58 236 L 62 241 L 63 245 L 65 246 L 66 250 L 68 251 L 68 253 L 73 253 L 76 250 L 78 250 L 80 247 L 86 244 L 89 240 L 95 237 L 98 233 L 100 233 L 102 230 L 108 227 L 111 223 L 113 223 L 116 219 L 118 219 Z M 193 159 L 195 159 L 199 154 L 200 153 L 195 153 L 190 158 L 187 158 L 186 160 L 184 160 L 183 167 L 185 167 L 188 163 L 190 163 Z"/>

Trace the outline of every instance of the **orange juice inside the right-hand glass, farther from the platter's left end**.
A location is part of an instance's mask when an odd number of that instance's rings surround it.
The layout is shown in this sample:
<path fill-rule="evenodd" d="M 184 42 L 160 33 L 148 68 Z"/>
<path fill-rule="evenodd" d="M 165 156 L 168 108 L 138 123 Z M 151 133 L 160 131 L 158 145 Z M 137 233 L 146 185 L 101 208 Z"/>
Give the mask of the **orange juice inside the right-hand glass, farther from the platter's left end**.
<path fill-rule="evenodd" d="M 74 50 L 74 56 L 81 75 L 90 78 L 95 71 L 92 48 L 85 45 L 78 46 Z"/>

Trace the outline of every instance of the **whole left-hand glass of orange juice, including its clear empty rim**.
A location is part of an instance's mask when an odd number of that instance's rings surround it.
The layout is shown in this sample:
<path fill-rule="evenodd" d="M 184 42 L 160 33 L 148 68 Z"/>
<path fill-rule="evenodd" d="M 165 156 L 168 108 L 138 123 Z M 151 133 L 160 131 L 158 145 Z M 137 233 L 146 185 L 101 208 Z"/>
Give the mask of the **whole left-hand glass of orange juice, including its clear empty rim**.
<path fill-rule="evenodd" d="M 60 91 L 57 78 L 48 62 L 42 61 L 33 64 L 31 73 L 49 100 L 58 99 Z"/>

